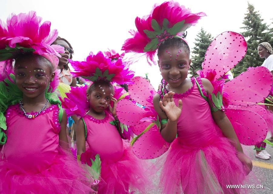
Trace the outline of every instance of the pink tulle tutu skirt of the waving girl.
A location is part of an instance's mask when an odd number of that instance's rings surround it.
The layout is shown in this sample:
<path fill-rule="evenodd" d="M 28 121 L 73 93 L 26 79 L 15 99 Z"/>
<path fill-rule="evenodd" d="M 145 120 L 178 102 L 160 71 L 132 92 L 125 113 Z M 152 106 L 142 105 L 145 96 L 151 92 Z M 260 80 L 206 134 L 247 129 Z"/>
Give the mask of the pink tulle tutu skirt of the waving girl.
<path fill-rule="evenodd" d="M 229 140 L 217 137 L 207 145 L 197 145 L 198 142 L 185 145 L 179 138 L 174 140 L 160 175 L 163 193 L 244 192 L 227 189 L 227 185 L 243 184 L 249 171 L 236 156 L 237 151 Z"/>

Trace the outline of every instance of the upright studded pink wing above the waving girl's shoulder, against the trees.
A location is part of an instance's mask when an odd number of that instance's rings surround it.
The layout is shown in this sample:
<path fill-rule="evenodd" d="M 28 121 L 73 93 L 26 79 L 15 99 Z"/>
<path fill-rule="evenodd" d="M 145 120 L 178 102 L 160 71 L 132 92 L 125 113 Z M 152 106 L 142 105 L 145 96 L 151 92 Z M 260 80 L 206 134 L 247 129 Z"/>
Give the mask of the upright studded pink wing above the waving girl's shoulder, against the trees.
<path fill-rule="evenodd" d="M 247 43 L 241 34 L 227 31 L 218 35 L 207 48 L 204 63 L 202 65 L 204 74 L 207 70 L 215 70 L 219 79 L 231 70 L 247 51 Z"/>

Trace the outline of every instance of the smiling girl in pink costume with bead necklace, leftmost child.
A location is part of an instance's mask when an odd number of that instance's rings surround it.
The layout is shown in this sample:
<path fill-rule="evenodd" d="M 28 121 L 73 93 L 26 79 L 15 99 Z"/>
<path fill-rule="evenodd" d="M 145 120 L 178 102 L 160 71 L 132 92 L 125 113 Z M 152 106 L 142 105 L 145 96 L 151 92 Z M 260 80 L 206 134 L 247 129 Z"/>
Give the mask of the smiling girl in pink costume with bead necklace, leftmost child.
<path fill-rule="evenodd" d="M 69 153 L 66 112 L 53 93 L 58 86 L 58 53 L 50 44 L 57 31 L 35 12 L 0 21 L 1 193 L 96 193 L 91 177 Z M 29 31 L 30 30 L 30 31 Z M 4 52 L 8 51 L 8 52 Z M 55 56 L 56 55 L 56 56 Z M 14 74 L 12 62 L 14 64 Z M 1 131 L 2 131 L 1 130 Z M 88 178 L 89 177 L 89 178 Z"/>

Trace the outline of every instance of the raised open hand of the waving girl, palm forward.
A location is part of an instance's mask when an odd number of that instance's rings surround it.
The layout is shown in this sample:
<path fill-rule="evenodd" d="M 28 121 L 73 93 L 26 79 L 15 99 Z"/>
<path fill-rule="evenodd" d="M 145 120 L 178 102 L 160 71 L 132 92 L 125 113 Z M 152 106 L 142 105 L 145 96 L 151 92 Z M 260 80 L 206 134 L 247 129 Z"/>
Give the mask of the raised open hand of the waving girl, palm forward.
<path fill-rule="evenodd" d="M 174 103 L 174 92 L 170 91 L 165 94 L 162 101 L 160 100 L 159 106 L 163 110 L 170 121 L 177 121 L 182 110 L 182 100 L 178 101 L 178 107 Z"/>

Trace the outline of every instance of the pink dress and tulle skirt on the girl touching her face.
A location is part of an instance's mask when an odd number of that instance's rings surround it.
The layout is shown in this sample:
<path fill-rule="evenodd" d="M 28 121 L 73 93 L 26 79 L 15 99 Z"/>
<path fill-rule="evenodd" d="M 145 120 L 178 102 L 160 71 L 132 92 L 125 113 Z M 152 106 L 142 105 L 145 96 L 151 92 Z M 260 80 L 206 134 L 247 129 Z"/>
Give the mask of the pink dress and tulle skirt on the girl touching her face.
<path fill-rule="evenodd" d="M 101 159 L 101 177 L 106 186 L 99 186 L 98 193 L 125 194 L 138 189 L 145 193 L 146 177 L 144 170 L 130 146 L 123 147 L 123 141 L 116 126 L 109 122 L 114 118 L 107 111 L 104 119 L 95 119 L 90 115 L 83 117 L 86 123 L 86 141 L 89 150 L 81 155 L 82 162 L 91 166 L 90 158 L 99 154 Z M 125 146 L 125 144 L 124 144 Z"/>

